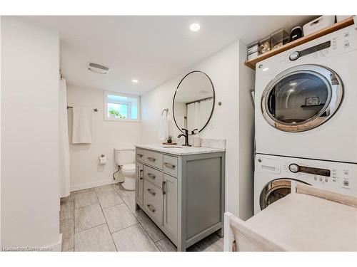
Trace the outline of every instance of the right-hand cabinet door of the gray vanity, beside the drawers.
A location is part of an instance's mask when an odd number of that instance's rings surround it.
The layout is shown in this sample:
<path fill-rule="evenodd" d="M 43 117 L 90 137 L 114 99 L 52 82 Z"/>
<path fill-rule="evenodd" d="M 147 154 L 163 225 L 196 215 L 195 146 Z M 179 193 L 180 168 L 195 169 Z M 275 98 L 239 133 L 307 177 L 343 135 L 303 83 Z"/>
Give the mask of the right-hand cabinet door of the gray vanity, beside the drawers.
<path fill-rule="evenodd" d="M 164 227 L 177 239 L 177 179 L 164 174 Z"/>

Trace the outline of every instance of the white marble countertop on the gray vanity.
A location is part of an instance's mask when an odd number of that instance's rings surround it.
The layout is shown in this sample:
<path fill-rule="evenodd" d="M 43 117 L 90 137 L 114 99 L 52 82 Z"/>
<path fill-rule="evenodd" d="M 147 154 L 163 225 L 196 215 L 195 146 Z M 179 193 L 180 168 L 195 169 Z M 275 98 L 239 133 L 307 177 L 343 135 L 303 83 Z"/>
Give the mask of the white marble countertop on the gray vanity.
<path fill-rule="evenodd" d="M 136 145 L 136 147 L 144 148 L 146 150 L 156 150 L 168 154 L 183 156 L 183 155 L 195 155 L 214 152 L 225 152 L 223 148 L 211 148 L 211 147 L 183 147 L 181 145 Z"/>

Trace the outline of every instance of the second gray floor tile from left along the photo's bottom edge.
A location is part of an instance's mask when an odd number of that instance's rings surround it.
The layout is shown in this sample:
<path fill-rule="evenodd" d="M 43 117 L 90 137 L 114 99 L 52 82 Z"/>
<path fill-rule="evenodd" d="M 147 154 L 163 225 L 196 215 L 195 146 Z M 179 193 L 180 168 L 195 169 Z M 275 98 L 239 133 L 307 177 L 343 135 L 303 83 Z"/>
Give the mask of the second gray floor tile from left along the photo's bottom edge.
<path fill-rule="evenodd" d="M 75 251 L 116 251 L 106 224 L 76 233 L 74 249 Z"/>

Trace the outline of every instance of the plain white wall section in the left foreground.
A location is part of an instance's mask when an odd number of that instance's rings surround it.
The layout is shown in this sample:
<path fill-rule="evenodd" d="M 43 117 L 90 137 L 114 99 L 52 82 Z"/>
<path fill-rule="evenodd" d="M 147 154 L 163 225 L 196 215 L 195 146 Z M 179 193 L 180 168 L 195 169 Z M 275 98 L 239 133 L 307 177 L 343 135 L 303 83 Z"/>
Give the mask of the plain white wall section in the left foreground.
<path fill-rule="evenodd" d="M 59 36 L 1 17 L 1 245 L 59 242 Z"/>

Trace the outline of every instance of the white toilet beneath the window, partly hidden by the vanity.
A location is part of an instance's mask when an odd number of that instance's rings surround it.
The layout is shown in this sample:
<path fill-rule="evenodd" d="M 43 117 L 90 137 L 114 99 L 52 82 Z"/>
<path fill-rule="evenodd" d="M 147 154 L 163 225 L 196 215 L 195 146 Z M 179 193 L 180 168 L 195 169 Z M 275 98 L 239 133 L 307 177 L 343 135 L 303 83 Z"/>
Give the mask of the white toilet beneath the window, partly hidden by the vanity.
<path fill-rule="evenodd" d="M 135 148 L 119 147 L 114 148 L 115 162 L 121 167 L 124 175 L 122 186 L 126 190 L 135 190 Z"/>

